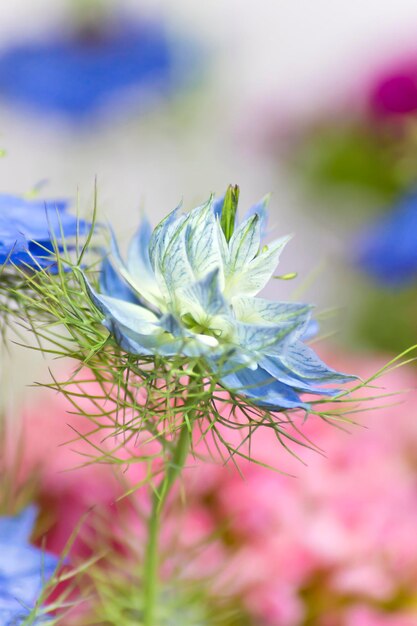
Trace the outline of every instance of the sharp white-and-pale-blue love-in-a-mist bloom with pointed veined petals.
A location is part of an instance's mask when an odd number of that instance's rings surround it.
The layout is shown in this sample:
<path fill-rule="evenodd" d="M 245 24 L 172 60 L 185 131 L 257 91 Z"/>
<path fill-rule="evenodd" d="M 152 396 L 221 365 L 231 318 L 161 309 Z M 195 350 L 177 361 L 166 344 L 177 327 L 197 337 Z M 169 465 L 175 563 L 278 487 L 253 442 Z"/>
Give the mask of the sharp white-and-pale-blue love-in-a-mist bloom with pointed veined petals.
<path fill-rule="evenodd" d="M 144 220 L 126 263 L 113 245 L 90 296 L 126 352 L 201 357 L 220 384 L 258 405 L 307 408 L 301 394 L 332 394 L 328 385 L 350 377 L 304 343 L 310 305 L 256 297 L 289 238 L 262 244 L 264 203 L 238 225 L 237 200 L 230 187 L 153 231 Z"/>

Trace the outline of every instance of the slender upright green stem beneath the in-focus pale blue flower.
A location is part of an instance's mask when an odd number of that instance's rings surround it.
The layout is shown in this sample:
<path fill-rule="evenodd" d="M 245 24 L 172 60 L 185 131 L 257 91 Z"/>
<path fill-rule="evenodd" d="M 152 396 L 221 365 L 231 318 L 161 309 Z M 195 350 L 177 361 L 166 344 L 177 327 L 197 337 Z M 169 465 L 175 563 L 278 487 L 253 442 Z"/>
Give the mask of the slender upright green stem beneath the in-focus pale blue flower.
<path fill-rule="evenodd" d="M 155 610 L 158 600 L 158 539 L 161 514 L 168 494 L 181 474 L 190 448 L 191 433 L 186 421 L 181 426 L 171 462 L 159 488 L 152 495 L 152 510 L 148 521 L 148 541 L 144 563 L 144 625 L 155 626 Z"/>

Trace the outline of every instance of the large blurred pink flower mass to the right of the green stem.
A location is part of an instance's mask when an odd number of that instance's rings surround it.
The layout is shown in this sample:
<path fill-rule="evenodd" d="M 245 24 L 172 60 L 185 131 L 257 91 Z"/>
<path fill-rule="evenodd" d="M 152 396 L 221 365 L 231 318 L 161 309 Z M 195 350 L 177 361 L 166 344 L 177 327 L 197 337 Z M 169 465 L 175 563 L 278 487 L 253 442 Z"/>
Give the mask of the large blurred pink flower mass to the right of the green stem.
<path fill-rule="evenodd" d="M 366 378 L 381 363 L 359 360 L 339 365 L 362 370 Z M 375 385 L 378 388 L 363 395 L 415 389 L 416 378 L 413 371 L 401 369 Z M 400 404 L 390 406 L 393 402 Z M 382 606 L 404 589 L 414 596 L 417 393 L 374 404 L 383 408 L 359 416 L 362 425 L 351 425 L 348 432 L 310 417 L 303 428 L 324 454 L 298 451 L 305 467 L 285 456 L 270 433 L 257 433 L 253 457 L 274 463 L 295 478 L 241 461 L 243 479 L 237 471 L 215 470 L 217 484 L 210 485 L 208 494 L 205 485 L 200 487 L 217 519 L 229 520 L 227 536 L 233 537 L 220 586 L 244 599 L 256 624 L 302 623 L 308 606 L 301 591 L 315 589 L 317 581 L 320 594 L 352 602 L 361 598 L 365 607 Z M 194 497 L 207 473 L 207 467 L 195 471 Z M 343 615 L 348 616 L 349 606 L 347 601 Z M 330 613 L 326 616 L 324 610 L 320 617 L 324 624 Z M 339 626 L 340 619 L 334 624 Z"/>

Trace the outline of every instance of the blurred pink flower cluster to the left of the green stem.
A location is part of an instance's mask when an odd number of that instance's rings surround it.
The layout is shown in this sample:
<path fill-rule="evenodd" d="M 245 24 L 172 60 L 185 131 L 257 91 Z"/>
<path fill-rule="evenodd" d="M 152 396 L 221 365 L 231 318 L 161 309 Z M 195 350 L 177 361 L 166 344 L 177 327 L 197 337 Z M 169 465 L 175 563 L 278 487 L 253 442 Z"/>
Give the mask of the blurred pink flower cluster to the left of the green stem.
<path fill-rule="evenodd" d="M 93 445 L 106 446 L 103 434 L 91 434 L 91 423 L 73 410 L 58 394 L 34 396 L 9 451 L 10 464 L 14 458 L 19 462 L 18 483 L 34 483 L 40 527 L 46 531 L 48 549 L 57 554 L 77 525 L 79 536 L 73 552 L 84 554 L 93 525 L 90 521 L 96 513 L 111 511 L 123 493 L 111 465 L 90 462 L 97 454 Z"/>

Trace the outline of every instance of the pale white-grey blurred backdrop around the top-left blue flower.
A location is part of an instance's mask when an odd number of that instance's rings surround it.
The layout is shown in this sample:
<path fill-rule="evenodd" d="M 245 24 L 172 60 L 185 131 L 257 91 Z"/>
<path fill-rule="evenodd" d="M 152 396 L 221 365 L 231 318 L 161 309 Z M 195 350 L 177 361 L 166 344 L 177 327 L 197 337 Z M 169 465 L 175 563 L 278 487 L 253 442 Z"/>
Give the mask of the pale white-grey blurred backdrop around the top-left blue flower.
<path fill-rule="evenodd" d="M 309 112 L 343 89 L 355 70 L 398 49 L 417 49 L 415 0 L 114 4 L 162 15 L 208 51 L 209 70 L 183 99 L 185 113 L 177 99 L 175 107 L 159 106 L 141 119 L 116 118 L 77 132 L 3 106 L 0 142 L 8 157 L 0 163 L 0 189 L 23 192 L 47 179 L 45 193 L 75 197 L 78 189 L 87 208 L 97 176 L 103 211 L 126 231 L 134 228 L 139 206 L 157 218 L 181 198 L 190 206 L 229 182 L 241 185 L 242 203 L 273 192 L 276 221 L 303 231 L 295 190 L 286 189 L 276 165 L 252 147 L 254 129 L 264 122 L 262 103 Z M 65 19 L 67 6 L 62 0 L 1 0 L 0 46 L 45 36 Z M 308 248 L 300 246 L 303 254 Z"/>

